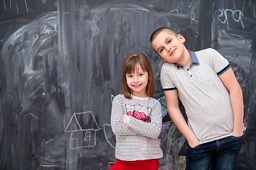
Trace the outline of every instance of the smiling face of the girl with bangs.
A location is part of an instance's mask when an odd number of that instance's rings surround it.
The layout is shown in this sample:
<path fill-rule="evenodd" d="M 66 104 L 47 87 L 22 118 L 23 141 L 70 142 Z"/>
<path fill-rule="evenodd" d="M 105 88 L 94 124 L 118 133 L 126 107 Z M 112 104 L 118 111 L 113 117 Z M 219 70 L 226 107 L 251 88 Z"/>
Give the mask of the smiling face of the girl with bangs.
<path fill-rule="evenodd" d="M 132 95 L 140 98 L 146 98 L 146 86 L 149 82 L 148 72 L 144 72 L 142 67 L 137 64 L 134 73 L 126 74 L 127 86 L 132 90 Z"/>

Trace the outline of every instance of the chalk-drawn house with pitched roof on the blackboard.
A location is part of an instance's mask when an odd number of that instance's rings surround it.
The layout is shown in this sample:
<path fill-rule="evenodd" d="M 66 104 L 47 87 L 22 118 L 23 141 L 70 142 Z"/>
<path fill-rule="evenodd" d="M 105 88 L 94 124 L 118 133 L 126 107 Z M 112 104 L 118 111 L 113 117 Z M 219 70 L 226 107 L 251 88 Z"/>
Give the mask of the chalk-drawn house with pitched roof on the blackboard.
<path fill-rule="evenodd" d="M 70 149 L 95 147 L 96 132 L 101 130 L 91 111 L 74 113 L 65 132 L 70 134 Z"/>

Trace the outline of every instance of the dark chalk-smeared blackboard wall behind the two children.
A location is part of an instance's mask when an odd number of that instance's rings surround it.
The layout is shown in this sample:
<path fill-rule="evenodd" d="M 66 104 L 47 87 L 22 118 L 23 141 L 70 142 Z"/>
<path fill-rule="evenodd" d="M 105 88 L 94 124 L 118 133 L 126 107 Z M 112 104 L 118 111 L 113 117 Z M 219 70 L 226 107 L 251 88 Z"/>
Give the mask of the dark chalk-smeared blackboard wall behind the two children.
<path fill-rule="evenodd" d="M 108 169 L 112 98 L 132 52 L 149 57 L 156 77 L 159 169 L 184 169 L 186 140 L 167 113 L 162 62 L 149 44 L 160 27 L 181 33 L 189 50 L 213 47 L 228 59 L 247 128 L 236 169 L 256 169 L 255 18 L 252 0 L 0 1 L 0 169 Z"/>

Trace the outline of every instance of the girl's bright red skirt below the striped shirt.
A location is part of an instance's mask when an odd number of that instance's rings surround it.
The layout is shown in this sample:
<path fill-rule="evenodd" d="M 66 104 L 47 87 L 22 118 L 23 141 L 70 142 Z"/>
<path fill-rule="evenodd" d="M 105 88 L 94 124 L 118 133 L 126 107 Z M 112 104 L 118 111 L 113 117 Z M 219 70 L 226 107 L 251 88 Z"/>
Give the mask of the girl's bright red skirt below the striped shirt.
<path fill-rule="evenodd" d="M 117 159 L 109 170 L 158 170 L 159 159 L 147 159 L 138 161 L 122 161 Z"/>

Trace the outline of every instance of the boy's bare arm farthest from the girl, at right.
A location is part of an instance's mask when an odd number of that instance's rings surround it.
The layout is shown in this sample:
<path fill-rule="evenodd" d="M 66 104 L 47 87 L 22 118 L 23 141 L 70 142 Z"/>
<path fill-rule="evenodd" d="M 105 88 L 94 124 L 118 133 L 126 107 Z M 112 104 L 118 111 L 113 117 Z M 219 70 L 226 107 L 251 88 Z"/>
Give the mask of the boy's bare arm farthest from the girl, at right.
<path fill-rule="evenodd" d="M 243 128 L 243 114 L 244 114 L 242 90 L 231 68 L 229 68 L 223 74 L 220 74 L 219 77 L 221 81 L 223 81 L 223 84 L 225 85 L 225 87 L 228 89 L 230 93 L 230 102 L 231 102 L 233 117 L 234 117 L 234 127 L 233 127 L 232 133 L 235 137 L 240 137 L 242 136 L 242 133 L 243 133 L 242 128 Z"/>

